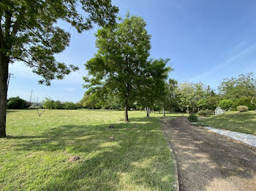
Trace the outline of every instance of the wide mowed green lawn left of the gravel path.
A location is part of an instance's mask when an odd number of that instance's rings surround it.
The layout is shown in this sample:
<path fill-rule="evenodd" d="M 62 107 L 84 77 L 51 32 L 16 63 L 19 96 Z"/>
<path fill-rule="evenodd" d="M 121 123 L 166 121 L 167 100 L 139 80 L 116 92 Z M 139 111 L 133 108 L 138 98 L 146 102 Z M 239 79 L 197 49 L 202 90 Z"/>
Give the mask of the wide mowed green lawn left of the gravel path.
<path fill-rule="evenodd" d="M 123 115 L 8 111 L 9 137 L 0 139 L 0 190 L 174 190 L 162 114 L 148 119 L 145 112 L 129 112 L 129 123 Z M 75 155 L 80 160 L 67 161 Z"/>

